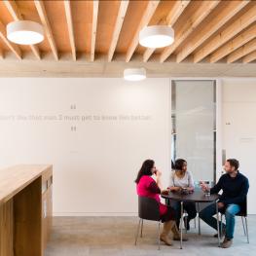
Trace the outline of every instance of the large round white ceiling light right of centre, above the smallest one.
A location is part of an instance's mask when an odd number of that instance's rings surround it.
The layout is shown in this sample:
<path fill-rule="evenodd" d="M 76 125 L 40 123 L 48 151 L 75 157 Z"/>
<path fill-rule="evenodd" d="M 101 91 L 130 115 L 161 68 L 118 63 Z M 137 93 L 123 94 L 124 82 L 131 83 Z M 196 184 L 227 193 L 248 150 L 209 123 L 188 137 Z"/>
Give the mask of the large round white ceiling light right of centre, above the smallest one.
<path fill-rule="evenodd" d="M 174 41 L 174 30 L 167 25 L 145 26 L 139 32 L 139 44 L 147 48 L 162 48 Z"/>

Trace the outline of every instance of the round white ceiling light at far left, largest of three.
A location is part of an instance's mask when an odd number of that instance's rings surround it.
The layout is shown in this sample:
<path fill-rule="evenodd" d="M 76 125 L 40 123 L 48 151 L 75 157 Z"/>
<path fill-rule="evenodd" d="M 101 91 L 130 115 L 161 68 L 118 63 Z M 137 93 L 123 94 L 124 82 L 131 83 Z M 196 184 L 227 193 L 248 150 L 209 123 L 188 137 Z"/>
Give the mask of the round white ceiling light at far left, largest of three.
<path fill-rule="evenodd" d="M 18 45 L 34 45 L 44 40 L 43 26 L 35 21 L 13 21 L 6 30 L 8 40 Z"/>

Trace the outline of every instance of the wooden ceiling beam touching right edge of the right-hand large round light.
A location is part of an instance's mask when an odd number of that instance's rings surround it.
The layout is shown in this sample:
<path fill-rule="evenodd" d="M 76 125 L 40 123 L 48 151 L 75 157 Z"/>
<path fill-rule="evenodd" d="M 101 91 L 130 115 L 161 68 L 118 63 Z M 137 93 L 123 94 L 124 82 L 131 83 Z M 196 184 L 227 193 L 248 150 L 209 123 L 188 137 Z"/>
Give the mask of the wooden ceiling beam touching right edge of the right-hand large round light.
<path fill-rule="evenodd" d="M 171 55 L 180 44 L 182 44 L 189 35 L 197 28 L 197 26 L 201 23 L 201 21 L 206 18 L 211 11 L 219 4 L 218 1 L 203 1 L 201 2 L 201 6 L 195 11 L 195 13 L 187 18 L 186 22 L 181 28 L 181 31 L 177 31 L 175 36 L 174 43 L 166 47 L 162 55 L 160 56 L 160 62 L 164 62 L 165 59 Z"/>

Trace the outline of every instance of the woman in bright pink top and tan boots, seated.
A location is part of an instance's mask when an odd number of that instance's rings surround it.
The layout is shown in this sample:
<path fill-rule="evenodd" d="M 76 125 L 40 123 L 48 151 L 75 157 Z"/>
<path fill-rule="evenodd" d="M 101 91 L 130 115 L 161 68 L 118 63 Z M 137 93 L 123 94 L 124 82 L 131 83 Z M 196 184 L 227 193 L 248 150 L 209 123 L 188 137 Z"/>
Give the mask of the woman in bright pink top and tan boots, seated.
<path fill-rule="evenodd" d="M 152 175 L 156 176 L 156 180 Z M 138 196 L 152 198 L 159 202 L 161 220 L 164 222 L 161 240 L 166 245 L 171 245 L 171 239 L 168 237 L 170 233 L 173 234 L 174 239 L 180 239 L 180 237 L 175 223 L 176 218 L 173 208 L 166 206 L 160 201 L 160 194 L 165 192 L 161 190 L 161 175 L 162 173 L 156 168 L 155 162 L 153 160 L 146 160 L 137 174 L 135 183 L 137 184 Z"/>

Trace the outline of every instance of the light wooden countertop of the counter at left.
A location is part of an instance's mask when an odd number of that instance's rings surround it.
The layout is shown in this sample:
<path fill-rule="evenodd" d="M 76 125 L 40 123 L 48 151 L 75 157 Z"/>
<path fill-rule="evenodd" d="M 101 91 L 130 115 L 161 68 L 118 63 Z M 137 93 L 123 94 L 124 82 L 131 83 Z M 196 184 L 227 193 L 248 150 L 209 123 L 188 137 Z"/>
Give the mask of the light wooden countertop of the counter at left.
<path fill-rule="evenodd" d="M 15 165 L 0 169 L 0 204 L 9 201 L 52 165 Z"/>

